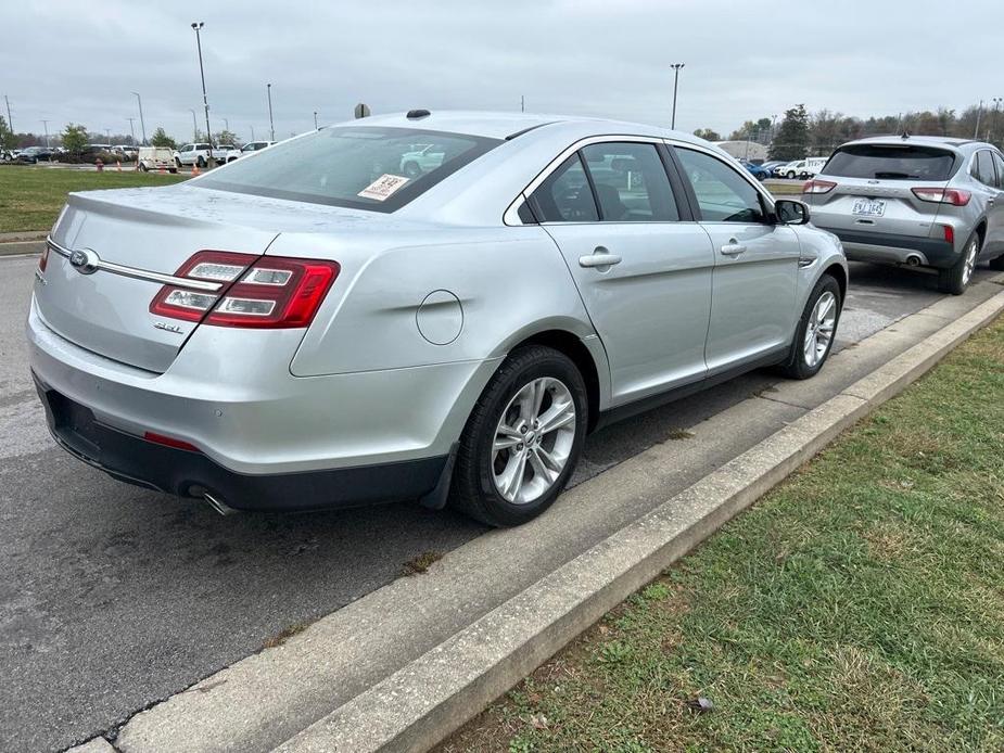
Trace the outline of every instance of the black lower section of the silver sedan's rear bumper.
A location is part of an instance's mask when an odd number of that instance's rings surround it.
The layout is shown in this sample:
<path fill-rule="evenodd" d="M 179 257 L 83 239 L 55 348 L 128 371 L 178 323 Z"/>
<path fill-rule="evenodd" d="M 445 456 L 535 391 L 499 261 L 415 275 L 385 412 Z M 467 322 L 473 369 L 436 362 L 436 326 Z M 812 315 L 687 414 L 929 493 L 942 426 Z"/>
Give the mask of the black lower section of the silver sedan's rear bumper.
<path fill-rule="evenodd" d="M 436 490 L 448 456 L 301 473 L 251 475 L 202 452 L 167 447 L 101 423 L 36 375 L 49 431 L 71 455 L 112 477 L 180 497 L 212 495 L 237 510 L 316 510 L 418 499 Z"/>

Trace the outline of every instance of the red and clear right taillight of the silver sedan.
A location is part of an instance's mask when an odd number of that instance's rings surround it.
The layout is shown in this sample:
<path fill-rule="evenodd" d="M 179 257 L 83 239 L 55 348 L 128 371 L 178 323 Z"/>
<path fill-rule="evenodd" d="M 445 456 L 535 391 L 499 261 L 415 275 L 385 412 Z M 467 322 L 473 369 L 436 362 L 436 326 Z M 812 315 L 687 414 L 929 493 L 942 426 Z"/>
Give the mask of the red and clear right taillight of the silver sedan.
<path fill-rule="evenodd" d="M 219 290 L 164 285 L 150 312 L 217 327 L 307 327 L 340 269 L 336 261 L 320 259 L 200 251 L 175 277 L 217 282 Z"/>

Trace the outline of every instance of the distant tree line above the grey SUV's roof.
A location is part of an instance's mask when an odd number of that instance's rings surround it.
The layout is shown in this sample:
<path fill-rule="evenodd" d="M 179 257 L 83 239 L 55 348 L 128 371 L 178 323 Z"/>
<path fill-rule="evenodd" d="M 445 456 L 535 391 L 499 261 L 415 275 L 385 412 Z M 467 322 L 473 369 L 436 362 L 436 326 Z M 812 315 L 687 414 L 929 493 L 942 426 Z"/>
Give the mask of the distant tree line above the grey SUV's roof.
<path fill-rule="evenodd" d="M 901 113 L 899 115 L 861 118 L 829 110 L 810 113 L 804 104 L 785 112 L 780 123 L 761 117 L 746 120 L 739 128 L 723 138 L 711 128 L 694 131 L 708 141 L 755 141 L 770 144 L 772 159 L 801 159 L 806 156 L 827 156 L 840 144 L 866 136 L 908 132 L 914 136 L 949 136 L 962 139 L 977 138 L 1001 146 L 1004 144 L 1004 112 L 1000 105 L 990 107 L 974 104 L 961 113 L 948 107 Z"/>

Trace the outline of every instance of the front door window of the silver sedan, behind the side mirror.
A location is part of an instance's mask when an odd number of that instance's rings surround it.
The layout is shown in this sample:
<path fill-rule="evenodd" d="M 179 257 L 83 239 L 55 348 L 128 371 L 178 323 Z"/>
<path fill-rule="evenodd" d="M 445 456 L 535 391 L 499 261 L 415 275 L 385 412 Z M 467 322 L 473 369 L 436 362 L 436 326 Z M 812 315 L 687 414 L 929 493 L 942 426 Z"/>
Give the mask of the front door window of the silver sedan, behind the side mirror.
<path fill-rule="evenodd" d="M 764 222 L 760 192 L 717 157 L 676 148 L 686 178 L 694 187 L 701 219 L 707 222 Z"/>

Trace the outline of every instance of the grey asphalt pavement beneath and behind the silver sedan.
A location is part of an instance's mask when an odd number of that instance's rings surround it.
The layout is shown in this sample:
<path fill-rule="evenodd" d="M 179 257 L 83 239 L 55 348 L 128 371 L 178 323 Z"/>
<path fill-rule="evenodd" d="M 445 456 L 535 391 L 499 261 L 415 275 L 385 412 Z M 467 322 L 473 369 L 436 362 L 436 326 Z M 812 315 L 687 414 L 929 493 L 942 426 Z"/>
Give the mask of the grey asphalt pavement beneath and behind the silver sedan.
<path fill-rule="evenodd" d="M 56 449 L 23 344 L 34 258 L 0 259 L 0 750 L 60 750 L 484 528 L 399 505 L 233 515 L 132 488 Z M 981 271 L 980 275 L 986 275 Z M 838 345 L 940 297 L 854 265 Z M 754 372 L 590 437 L 575 482 L 770 387 Z"/>

